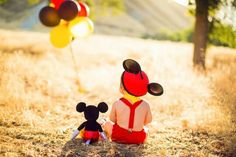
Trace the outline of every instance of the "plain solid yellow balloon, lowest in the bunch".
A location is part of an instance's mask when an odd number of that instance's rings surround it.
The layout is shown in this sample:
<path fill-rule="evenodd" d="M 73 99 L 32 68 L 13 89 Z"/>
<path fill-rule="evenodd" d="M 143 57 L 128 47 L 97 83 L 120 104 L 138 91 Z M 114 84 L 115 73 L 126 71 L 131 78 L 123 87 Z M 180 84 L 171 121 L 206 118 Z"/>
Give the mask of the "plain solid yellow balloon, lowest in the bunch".
<path fill-rule="evenodd" d="M 53 28 L 50 33 L 50 41 L 53 46 L 57 48 L 66 47 L 71 41 L 71 33 L 68 26 L 65 24 L 60 24 Z"/>

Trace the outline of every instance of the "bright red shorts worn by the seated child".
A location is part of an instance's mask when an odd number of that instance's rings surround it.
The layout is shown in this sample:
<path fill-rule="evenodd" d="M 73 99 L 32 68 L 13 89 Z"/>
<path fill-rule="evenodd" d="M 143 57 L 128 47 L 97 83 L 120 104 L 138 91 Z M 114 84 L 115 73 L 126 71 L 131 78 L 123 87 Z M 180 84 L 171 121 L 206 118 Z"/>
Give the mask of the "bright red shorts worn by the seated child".
<path fill-rule="evenodd" d="M 146 133 L 142 131 L 132 131 L 121 128 L 119 125 L 114 124 L 112 129 L 112 141 L 126 144 L 141 144 L 146 139 Z"/>

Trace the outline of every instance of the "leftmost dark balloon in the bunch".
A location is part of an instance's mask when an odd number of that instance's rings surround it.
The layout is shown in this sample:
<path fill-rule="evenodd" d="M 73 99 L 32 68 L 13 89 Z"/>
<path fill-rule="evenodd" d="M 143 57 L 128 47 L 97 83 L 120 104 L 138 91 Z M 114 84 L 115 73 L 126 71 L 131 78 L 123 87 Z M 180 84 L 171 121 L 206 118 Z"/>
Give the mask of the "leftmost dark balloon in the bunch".
<path fill-rule="evenodd" d="M 60 17 L 57 10 L 46 6 L 40 10 L 39 19 L 45 26 L 54 27 L 60 23 Z"/>

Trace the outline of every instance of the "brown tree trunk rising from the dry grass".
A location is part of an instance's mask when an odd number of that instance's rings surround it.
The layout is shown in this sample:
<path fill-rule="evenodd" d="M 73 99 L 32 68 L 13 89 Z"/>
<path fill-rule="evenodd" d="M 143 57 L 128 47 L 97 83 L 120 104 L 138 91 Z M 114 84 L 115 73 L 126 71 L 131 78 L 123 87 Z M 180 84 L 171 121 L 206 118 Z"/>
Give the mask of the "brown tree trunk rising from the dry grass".
<path fill-rule="evenodd" d="M 195 0 L 196 2 L 196 22 L 194 30 L 194 66 L 205 69 L 205 54 L 208 36 L 208 9 L 209 0 Z"/>

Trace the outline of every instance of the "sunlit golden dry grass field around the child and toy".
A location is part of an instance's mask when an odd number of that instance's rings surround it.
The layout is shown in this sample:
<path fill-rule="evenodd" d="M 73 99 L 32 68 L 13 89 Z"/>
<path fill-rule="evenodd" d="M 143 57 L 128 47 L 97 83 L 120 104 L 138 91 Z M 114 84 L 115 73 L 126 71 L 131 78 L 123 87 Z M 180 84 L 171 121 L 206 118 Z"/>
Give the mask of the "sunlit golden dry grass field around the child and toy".
<path fill-rule="evenodd" d="M 209 47 L 200 73 L 187 43 L 93 35 L 72 48 L 78 76 L 69 47 L 53 48 L 48 34 L 0 30 L 0 156 L 236 156 L 236 50 Z M 144 97 L 153 113 L 147 142 L 70 141 L 84 121 L 78 102 L 111 107 L 121 97 L 126 58 L 165 90 Z"/>

